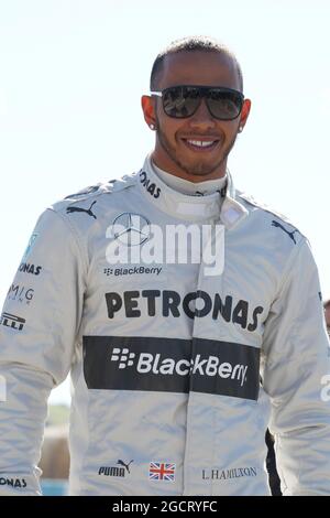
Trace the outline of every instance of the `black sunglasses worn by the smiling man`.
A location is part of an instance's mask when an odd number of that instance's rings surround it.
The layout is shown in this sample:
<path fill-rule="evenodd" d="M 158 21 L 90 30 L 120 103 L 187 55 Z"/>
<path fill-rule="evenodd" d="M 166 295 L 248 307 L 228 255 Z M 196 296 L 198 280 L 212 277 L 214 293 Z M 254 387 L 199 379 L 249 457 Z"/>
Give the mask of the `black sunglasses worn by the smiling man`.
<path fill-rule="evenodd" d="M 162 97 L 163 108 L 168 117 L 185 119 L 191 117 L 205 98 L 208 110 L 215 119 L 233 120 L 242 111 L 244 96 L 241 91 L 222 86 L 170 86 L 162 91 L 151 91 Z"/>

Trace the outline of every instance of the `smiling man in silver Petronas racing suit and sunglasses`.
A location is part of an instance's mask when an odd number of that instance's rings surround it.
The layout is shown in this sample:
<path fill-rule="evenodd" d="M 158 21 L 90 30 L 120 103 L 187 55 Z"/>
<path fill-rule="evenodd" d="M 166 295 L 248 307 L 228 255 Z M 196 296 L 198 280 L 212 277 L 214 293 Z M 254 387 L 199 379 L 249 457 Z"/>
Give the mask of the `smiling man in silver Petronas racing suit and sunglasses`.
<path fill-rule="evenodd" d="M 242 91 L 222 45 L 175 42 L 142 97 L 156 142 L 140 173 L 37 222 L 0 325 L 2 493 L 38 492 L 69 370 L 72 494 L 268 495 L 268 423 L 283 493 L 330 493 L 318 272 L 305 237 L 233 186 Z"/>

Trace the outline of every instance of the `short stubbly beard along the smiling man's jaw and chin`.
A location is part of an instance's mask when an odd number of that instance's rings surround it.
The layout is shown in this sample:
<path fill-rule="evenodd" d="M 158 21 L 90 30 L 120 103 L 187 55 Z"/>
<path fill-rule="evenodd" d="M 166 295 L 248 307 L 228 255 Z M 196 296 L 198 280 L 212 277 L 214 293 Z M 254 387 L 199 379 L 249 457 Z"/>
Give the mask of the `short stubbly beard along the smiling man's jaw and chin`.
<path fill-rule="evenodd" d="M 167 154 L 167 157 L 176 164 L 178 165 L 183 171 L 185 171 L 187 174 L 194 174 L 198 176 L 207 176 L 211 174 L 216 169 L 220 168 L 223 162 L 227 160 L 229 153 L 231 152 L 235 140 L 237 140 L 237 134 L 232 139 L 231 142 L 222 150 L 221 155 L 219 157 L 219 160 L 213 163 L 212 165 L 206 164 L 202 160 L 199 162 L 195 163 L 185 163 L 183 162 L 176 154 L 176 149 L 168 142 L 166 136 L 163 133 L 162 128 L 160 122 L 157 123 L 157 138 L 160 141 L 160 144 L 162 145 L 163 150 Z"/>

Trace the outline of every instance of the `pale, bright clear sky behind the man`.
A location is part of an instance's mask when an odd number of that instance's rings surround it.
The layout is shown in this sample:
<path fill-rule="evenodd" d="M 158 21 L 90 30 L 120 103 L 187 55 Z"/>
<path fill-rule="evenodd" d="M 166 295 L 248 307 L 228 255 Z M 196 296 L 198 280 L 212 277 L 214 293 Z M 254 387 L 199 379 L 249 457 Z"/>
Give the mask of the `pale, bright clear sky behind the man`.
<path fill-rule="evenodd" d="M 308 236 L 329 296 L 329 20 L 328 0 L 0 0 L 1 300 L 47 205 L 141 166 L 152 63 L 189 34 L 241 62 L 253 107 L 229 168 Z"/>

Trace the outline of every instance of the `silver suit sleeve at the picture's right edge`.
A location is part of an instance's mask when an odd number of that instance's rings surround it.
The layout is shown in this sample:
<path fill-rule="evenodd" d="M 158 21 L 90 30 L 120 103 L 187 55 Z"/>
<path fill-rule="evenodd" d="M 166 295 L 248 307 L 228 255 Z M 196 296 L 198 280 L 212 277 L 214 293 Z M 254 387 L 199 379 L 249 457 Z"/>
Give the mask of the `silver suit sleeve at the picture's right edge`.
<path fill-rule="evenodd" d="M 263 345 L 270 429 L 286 496 L 330 495 L 330 349 L 320 299 L 317 267 L 302 240 L 265 323 Z"/>

